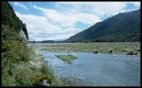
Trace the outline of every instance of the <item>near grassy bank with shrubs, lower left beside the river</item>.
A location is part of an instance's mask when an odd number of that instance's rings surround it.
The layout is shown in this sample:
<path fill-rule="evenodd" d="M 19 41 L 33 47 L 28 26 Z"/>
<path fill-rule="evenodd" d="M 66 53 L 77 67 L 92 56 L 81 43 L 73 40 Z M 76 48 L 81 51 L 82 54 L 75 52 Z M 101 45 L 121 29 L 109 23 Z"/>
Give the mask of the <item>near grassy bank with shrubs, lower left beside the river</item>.
<path fill-rule="evenodd" d="M 20 54 L 18 44 L 21 43 L 11 42 L 13 43 L 3 43 L 3 48 L 10 50 L 2 53 L 2 86 L 60 85 L 59 78 L 53 69 L 44 61 L 42 55 L 36 53 L 34 47 L 29 47 Z"/>

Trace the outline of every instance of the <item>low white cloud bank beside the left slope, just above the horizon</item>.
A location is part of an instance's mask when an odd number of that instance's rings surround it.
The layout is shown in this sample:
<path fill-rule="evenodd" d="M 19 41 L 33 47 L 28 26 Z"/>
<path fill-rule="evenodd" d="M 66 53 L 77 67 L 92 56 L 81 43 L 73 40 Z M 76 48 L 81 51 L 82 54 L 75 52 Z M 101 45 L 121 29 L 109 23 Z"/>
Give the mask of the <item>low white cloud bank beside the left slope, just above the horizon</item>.
<path fill-rule="evenodd" d="M 27 24 L 30 40 L 58 40 L 67 39 L 80 32 L 80 29 L 61 26 L 50 23 L 45 16 L 25 15 L 16 12 L 16 15 Z"/>

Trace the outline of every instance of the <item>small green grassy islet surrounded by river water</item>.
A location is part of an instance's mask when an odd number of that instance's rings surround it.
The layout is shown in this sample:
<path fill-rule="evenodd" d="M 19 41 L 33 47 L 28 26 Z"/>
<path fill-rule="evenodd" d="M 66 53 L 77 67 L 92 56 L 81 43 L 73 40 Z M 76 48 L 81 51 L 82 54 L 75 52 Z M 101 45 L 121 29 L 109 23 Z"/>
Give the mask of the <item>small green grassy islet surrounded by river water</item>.
<path fill-rule="evenodd" d="M 68 55 L 56 55 L 56 57 L 58 57 L 59 59 L 63 60 L 63 61 L 66 61 L 67 63 L 71 64 L 71 61 L 76 59 L 77 57 L 71 55 L 71 54 L 68 54 Z"/>

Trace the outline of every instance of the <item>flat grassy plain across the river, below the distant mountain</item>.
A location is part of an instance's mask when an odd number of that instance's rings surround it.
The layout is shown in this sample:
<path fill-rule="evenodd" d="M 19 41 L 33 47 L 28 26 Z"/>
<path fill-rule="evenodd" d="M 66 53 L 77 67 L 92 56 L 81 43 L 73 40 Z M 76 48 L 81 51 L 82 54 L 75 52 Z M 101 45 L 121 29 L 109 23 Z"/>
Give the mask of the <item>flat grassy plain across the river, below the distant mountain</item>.
<path fill-rule="evenodd" d="M 51 43 L 42 50 L 53 52 L 93 52 L 93 53 L 123 53 L 140 54 L 140 42 L 101 42 L 101 43 Z"/>

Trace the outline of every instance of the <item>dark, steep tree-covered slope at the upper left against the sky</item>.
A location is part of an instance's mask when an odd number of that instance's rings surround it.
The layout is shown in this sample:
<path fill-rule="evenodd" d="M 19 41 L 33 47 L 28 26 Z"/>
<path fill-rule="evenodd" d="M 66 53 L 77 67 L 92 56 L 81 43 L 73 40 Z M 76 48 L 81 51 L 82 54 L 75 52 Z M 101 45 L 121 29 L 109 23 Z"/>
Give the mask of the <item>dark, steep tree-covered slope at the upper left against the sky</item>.
<path fill-rule="evenodd" d="M 29 38 L 27 29 L 26 29 L 26 24 L 24 24 L 16 16 L 13 8 L 7 2 L 2 2 L 2 24 L 5 26 L 9 26 L 10 28 L 12 28 L 12 31 L 16 31 L 17 33 L 21 31 L 22 29 L 27 39 Z"/>

